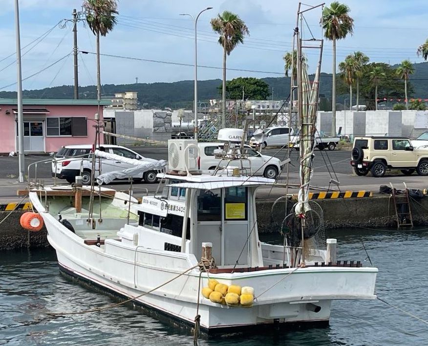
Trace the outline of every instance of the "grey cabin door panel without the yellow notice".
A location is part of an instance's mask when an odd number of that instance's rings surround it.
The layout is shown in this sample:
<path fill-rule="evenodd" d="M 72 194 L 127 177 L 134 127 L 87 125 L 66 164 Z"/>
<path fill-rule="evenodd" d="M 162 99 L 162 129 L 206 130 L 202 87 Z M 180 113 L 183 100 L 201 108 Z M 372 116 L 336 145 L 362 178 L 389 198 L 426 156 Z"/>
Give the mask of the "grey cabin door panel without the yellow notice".
<path fill-rule="evenodd" d="M 221 264 L 221 191 L 196 190 L 197 225 L 193 253 L 201 259 L 202 243 L 213 243 L 213 257 Z"/>

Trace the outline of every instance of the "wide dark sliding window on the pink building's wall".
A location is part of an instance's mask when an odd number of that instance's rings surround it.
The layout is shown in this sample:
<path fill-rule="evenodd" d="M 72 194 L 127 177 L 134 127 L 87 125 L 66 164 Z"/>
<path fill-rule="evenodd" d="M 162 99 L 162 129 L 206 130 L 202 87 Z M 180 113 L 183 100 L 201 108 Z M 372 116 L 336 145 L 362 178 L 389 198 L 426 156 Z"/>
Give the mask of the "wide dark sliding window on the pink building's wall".
<path fill-rule="evenodd" d="M 86 117 L 48 117 L 47 136 L 87 136 Z"/>

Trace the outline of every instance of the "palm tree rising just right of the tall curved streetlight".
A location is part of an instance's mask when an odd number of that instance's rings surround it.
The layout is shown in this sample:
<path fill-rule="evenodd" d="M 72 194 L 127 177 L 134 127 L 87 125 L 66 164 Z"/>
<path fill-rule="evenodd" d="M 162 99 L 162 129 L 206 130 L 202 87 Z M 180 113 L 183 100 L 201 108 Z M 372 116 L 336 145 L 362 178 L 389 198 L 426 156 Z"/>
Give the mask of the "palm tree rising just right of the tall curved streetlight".
<path fill-rule="evenodd" d="M 218 43 L 223 47 L 223 85 L 221 127 L 226 127 L 226 56 L 239 44 L 244 43 L 244 36 L 250 35 L 245 22 L 235 13 L 224 11 L 211 20 L 211 27 L 220 35 Z"/>

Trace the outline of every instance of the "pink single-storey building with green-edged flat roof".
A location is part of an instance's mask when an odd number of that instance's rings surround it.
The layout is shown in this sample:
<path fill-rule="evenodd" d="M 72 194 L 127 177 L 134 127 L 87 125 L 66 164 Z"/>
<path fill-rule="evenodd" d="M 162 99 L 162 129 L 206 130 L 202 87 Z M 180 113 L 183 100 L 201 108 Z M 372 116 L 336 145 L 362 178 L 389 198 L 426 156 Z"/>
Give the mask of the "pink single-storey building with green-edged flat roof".
<path fill-rule="evenodd" d="M 22 104 L 25 152 L 51 152 L 63 145 L 94 143 L 91 119 L 99 112 L 103 120 L 103 106 L 110 101 L 24 99 Z M 17 122 L 17 100 L 0 99 L 0 152 L 18 151 Z"/>

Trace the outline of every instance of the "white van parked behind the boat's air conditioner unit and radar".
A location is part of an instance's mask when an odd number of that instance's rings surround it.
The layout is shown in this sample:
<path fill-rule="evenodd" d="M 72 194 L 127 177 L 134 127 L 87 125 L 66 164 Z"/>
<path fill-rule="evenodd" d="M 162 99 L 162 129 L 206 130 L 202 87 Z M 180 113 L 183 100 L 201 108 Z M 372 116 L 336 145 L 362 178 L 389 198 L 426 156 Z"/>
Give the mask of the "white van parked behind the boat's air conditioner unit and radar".
<path fill-rule="evenodd" d="M 217 167 L 217 165 L 220 163 L 220 159 L 215 158 L 214 156 L 214 150 L 223 149 L 223 146 L 224 143 L 219 142 L 198 143 L 200 151 L 199 169 L 202 171 L 214 170 L 215 167 Z M 270 179 L 277 178 L 278 173 L 281 171 L 281 161 L 278 158 L 263 155 L 258 151 L 255 151 L 249 145 L 245 145 L 243 151 L 251 162 L 251 172 L 254 175 L 262 175 Z M 245 162 L 244 167 L 247 167 L 245 166 Z"/>

